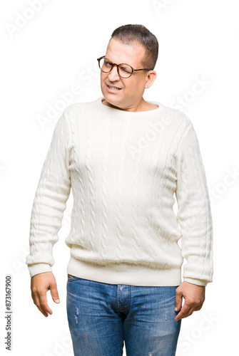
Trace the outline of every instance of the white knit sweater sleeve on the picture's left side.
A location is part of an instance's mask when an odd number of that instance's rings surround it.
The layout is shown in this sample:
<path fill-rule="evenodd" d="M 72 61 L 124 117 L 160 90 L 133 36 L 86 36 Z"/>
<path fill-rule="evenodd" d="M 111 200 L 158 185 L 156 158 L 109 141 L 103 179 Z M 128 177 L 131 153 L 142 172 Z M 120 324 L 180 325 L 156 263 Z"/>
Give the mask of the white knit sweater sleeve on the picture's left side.
<path fill-rule="evenodd" d="M 59 240 L 63 211 L 71 192 L 69 171 L 70 128 L 66 110 L 56 122 L 31 210 L 29 246 L 26 264 L 30 276 L 51 272 L 53 246 Z"/>

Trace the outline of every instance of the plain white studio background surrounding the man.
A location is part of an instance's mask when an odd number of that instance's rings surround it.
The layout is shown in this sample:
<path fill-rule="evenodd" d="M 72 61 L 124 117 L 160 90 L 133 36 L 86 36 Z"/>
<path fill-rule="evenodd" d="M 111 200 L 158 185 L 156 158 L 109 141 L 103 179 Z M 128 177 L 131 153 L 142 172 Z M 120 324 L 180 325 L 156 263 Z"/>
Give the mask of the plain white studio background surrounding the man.
<path fill-rule="evenodd" d="M 182 320 L 176 355 L 235 355 L 239 237 L 237 6 L 235 0 L 1 2 L 1 355 L 73 355 L 66 315 L 70 250 L 64 243 L 70 228 L 72 197 L 54 246 L 53 272 L 61 303 L 54 303 L 47 293 L 53 310 L 48 318 L 31 299 L 25 264 L 31 207 L 56 121 L 71 103 L 101 96 L 96 58 L 106 53 L 113 30 L 127 23 L 144 24 L 158 38 L 157 78 L 144 98 L 178 108 L 190 117 L 210 192 L 213 283 L 206 287 L 203 308 Z M 73 85 L 78 85 L 78 95 L 69 95 Z M 72 100 L 63 102 L 63 95 Z M 61 103 L 65 105 L 62 108 Z M 55 108 L 51 117 L 49 108 Z M 8 274 L 13 285 L 11 353 L 4 345 Z"/>

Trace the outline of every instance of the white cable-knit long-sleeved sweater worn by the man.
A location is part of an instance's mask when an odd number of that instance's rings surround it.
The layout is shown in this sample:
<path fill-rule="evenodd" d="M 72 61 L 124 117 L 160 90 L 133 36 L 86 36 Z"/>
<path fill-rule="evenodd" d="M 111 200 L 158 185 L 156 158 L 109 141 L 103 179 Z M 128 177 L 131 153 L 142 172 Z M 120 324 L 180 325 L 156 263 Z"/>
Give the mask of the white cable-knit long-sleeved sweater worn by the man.
<path fill-rule="evenodd" d="M 131 286 L 178 286 L 183 275 L 206 286 L 213 221 L 192 122 L 158 102 L 129 112 L 101 99 L 68 106 L 56 122 L 31 212 L 30 276 L 52 271 L 72 189 L 67 273 Z"/>

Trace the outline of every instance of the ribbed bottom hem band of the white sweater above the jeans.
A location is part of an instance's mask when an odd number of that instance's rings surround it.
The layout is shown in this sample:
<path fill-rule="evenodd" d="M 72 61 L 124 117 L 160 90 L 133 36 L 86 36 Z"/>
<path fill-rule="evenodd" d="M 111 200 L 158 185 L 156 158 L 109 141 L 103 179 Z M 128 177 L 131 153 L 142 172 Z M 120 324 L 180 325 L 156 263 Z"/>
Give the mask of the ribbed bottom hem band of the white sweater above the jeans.
<path fill-rule="evenodd" d="M 109 268 L 108 266 L 91 265 L 71 256 L 67 266 L 67 273 L 78 278 L 91 281 L 124 284 L 129 286 L 179 286 L 181 283 L 181 269 L 151 269 L 143 266 L 123 268 Z"/>

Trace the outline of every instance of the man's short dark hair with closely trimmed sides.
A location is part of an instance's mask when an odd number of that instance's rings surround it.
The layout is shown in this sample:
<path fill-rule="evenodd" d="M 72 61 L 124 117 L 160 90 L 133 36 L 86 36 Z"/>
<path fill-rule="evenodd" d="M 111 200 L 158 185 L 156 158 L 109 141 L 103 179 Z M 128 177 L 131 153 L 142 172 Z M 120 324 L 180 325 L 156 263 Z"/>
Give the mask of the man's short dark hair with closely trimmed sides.
<path fill-rule="evenodd" d="M 146 56 L 142 61 L 143 68 L 153 68 L 156 66 L 158 59 L 158 40 L 143 25 L 123 25 L 116 28 L 111 38 L 117 38 L 123 43 L 131 44 L 138 43 L 146 50 Z"/>

